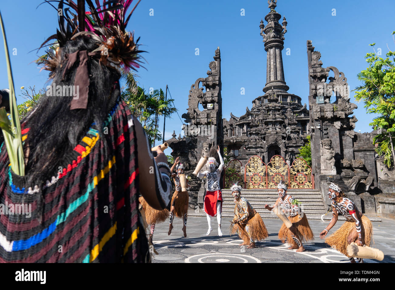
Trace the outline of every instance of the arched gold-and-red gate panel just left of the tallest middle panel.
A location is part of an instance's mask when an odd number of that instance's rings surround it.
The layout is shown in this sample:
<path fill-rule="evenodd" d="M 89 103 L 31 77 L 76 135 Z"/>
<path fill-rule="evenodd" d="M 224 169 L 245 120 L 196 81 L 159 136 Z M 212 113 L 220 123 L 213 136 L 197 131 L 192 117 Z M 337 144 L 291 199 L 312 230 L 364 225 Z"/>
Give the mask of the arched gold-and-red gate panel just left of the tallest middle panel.
<path fill-rule="evenodd" d="M 245 188 L 267 188 L 266 165 L 261 157 L 254 155 L 246 164 Z"/>

